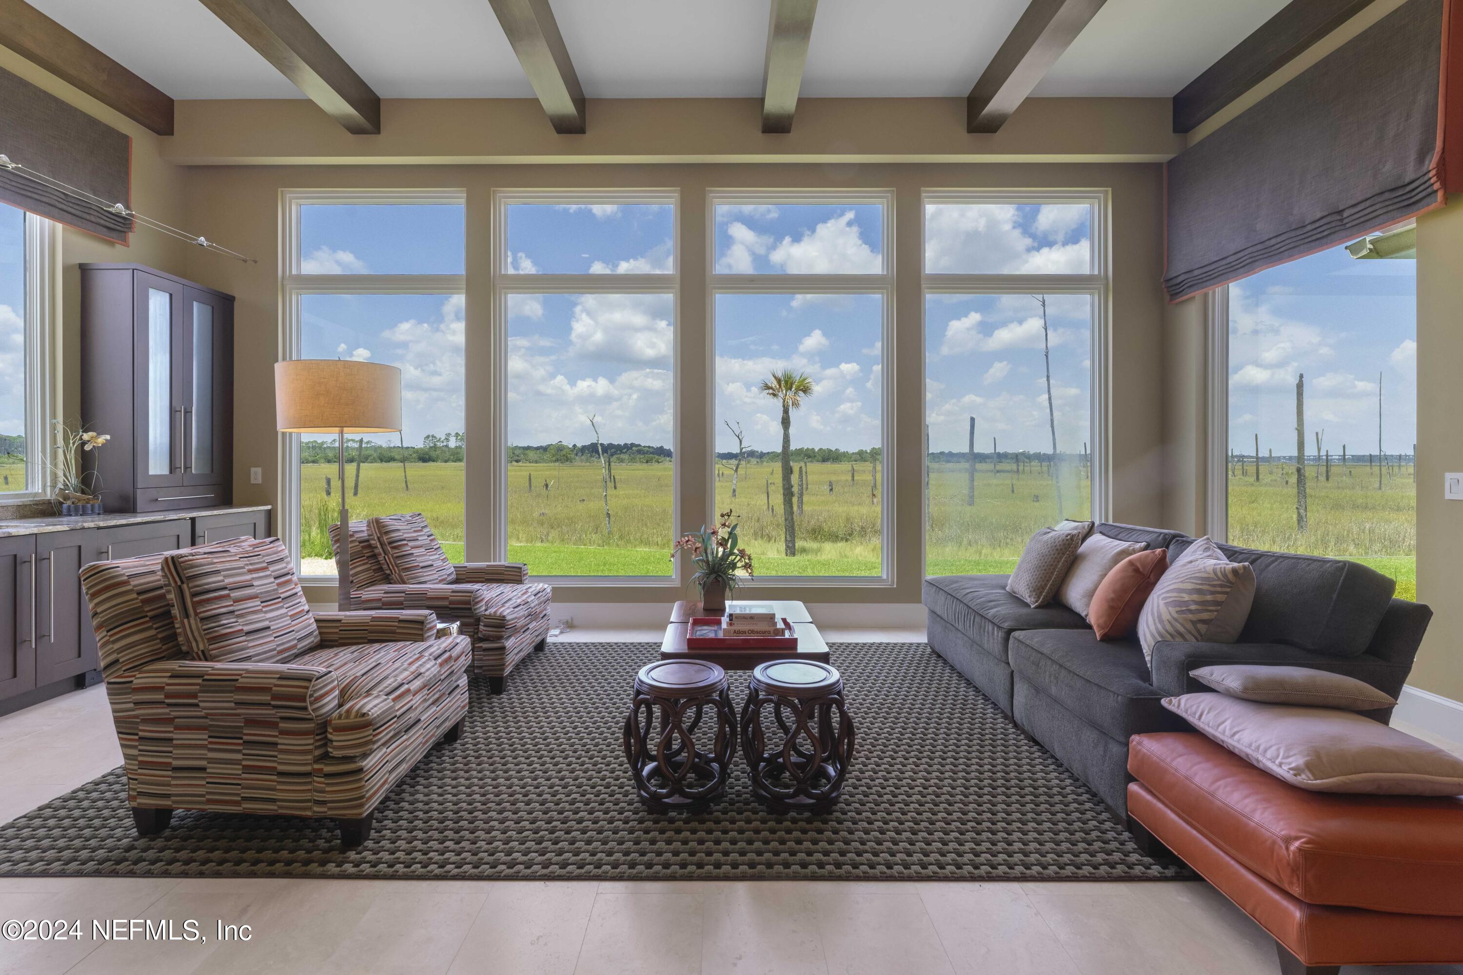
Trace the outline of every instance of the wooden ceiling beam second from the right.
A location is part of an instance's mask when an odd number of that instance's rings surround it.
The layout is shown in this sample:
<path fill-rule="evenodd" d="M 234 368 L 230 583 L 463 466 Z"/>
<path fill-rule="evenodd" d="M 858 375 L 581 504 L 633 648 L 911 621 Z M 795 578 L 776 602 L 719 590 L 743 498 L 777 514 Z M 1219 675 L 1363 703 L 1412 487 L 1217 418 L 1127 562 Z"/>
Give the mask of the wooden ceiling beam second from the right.
<path fill-rule="evenodd" d="M 1106 0 L 1031 0 L 966 98 L 966 132 L 996 132 Z"/>

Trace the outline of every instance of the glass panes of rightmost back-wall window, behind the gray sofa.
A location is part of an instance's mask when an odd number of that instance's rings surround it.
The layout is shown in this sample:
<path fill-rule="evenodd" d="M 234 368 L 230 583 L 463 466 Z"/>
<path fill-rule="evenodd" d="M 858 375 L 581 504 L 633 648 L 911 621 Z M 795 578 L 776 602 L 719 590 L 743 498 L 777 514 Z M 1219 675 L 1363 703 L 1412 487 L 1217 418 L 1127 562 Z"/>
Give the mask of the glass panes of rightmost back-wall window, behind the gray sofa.
<path fill-rule="evenodd" d="M 1103 197 L 925 197 L 925 560 L 1011 572 L 1100 497 Z M 1100 506 L 1096 507 L 1100 512 Z"/>

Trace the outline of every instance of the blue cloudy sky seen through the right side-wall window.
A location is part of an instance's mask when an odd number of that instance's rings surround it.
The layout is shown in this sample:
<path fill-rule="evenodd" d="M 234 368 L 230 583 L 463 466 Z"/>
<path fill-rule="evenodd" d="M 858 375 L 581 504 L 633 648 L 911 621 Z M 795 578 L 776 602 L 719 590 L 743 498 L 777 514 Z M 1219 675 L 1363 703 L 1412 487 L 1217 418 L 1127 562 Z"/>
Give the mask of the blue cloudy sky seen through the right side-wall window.
<path fill-rule="evenodd" d="M 1410 453 L 1418 439 L 1415 260 L 1356 260 L 1342 247 L 1229 289 L 1229 430 L 1235 450 L 1295 455 L 1295 383 L 1305 374 L 1306 450 Z"/>

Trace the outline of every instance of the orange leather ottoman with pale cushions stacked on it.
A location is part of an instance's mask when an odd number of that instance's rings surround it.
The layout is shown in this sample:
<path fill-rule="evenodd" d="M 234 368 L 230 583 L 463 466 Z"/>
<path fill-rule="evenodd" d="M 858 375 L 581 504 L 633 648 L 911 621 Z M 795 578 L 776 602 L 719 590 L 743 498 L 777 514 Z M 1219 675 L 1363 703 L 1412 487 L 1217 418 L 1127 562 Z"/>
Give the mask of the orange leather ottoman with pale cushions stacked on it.
<path fill-rule="evenodd" d="M 1308 792 L 1195 732 L 1134 735 L 1128 772 L 1140 845 L 1264 927 L 1283 972 L 1463 960 L 1463 800 Z"/>

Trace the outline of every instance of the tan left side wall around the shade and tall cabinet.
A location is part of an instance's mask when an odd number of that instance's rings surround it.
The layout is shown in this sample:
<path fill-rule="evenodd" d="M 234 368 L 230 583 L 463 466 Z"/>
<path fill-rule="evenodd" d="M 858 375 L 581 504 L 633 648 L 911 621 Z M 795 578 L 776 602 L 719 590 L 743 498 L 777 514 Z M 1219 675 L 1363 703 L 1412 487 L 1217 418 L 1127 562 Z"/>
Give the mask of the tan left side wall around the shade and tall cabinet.
<path fill-rule="evenodd" d="M 173 227 L 186 225 L 183 218 L 186 170 L 162 159 L 159 155 L 159 142 L 162 140 L 158 136 L 6 48 L 0 48 L 0 67 L 132 136 L 132 209 Z M 60 355 L 56 363 L 56 379 L 60 386 L 57 390 L 60 412 L 66 422 L 75 424 L 80 418 L 80 390 L 78 389 L 80 377 L 80 275 L 76 265 L 135 262 L 180 275 L 187 263 L 187 251 L 189 246 L 184 241 L 149 229 L 135 232 L 130 246 L 116 244 L 70 227 L 61 229 Z M 92 425 L 105 425 L 99 418 L 86 417 L 85 420 Z"/>

